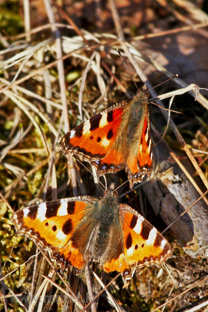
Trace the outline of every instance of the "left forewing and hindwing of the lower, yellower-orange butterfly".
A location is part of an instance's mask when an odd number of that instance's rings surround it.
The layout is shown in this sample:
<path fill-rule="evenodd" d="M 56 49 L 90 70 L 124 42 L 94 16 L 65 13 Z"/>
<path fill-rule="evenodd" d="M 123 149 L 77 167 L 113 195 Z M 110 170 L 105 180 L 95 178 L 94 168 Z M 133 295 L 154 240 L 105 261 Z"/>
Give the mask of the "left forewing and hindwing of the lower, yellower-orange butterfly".
<path fill-rule="evenodd" d="M 80 270 L 89 261 L 86 248 L 96 227 L 92 216 L 97 202 L 90 196 L 43 202 L 18 210 L 11 221 L 18 235 L 49 251 L 62 269 L 71 264 Z"/>

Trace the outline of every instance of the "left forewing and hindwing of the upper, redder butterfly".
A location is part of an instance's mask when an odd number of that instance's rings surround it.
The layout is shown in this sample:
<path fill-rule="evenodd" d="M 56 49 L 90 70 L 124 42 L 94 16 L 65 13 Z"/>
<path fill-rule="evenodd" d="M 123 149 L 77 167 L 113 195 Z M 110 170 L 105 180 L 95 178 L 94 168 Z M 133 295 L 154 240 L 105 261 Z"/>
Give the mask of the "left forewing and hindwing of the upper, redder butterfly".
<path fill-rule="evenodd" d="M 124 168 L 123 138 L 130 102 L 117 103 L 67 132 L 59 143 L 64 153 L 81 155 L 97 168 L 99 176 Z"/>

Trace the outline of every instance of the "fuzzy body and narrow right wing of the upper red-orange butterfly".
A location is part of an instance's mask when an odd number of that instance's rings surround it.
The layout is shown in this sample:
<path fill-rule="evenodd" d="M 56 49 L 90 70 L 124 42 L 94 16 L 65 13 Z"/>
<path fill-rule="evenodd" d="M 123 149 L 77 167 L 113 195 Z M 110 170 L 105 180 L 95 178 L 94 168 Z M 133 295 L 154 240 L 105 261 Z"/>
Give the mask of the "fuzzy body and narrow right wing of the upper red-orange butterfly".
<path fill-rule="evenodd" d="M 126 167 L 130 188 L 134 183 L 142 181 L 152 171 L 152 141 L 150 137 L 150 121 L 147 92 L 140 90 L 133 97 L 129 109 L 128 127 L 125 135 Z"/>

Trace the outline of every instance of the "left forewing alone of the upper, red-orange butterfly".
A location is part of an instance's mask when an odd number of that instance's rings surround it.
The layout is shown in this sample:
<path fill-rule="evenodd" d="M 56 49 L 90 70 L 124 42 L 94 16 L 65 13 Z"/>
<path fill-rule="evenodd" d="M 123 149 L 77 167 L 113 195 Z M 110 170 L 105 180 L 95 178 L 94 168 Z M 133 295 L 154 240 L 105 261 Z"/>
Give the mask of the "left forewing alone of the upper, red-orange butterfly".
<path fill-rule="evenodd" d="M 69 131 L 59 143 L 64 153 L 80 154 L 90 161 L 104 158 L 117 137 L 122 111 L 102 112 Z"/>

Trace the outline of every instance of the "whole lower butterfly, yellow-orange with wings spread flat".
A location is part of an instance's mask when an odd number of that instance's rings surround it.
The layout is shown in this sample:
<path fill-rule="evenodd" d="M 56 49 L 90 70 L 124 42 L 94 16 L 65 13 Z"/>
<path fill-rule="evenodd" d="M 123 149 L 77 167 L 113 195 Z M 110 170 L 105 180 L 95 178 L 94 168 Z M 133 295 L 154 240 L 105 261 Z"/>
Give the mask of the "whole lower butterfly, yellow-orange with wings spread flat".
<path fill-rule="evenodd" d="M 47 250 L 61 270 L 82 270 L 90 261 L 131 279 L 137 267 L 161 266 L 171 257 L 168 241 L 143 216 L 121 204 L 114 183 L 104 197 L 79 196 L 43 202 L 15 212 L 11 221 Z"/>

